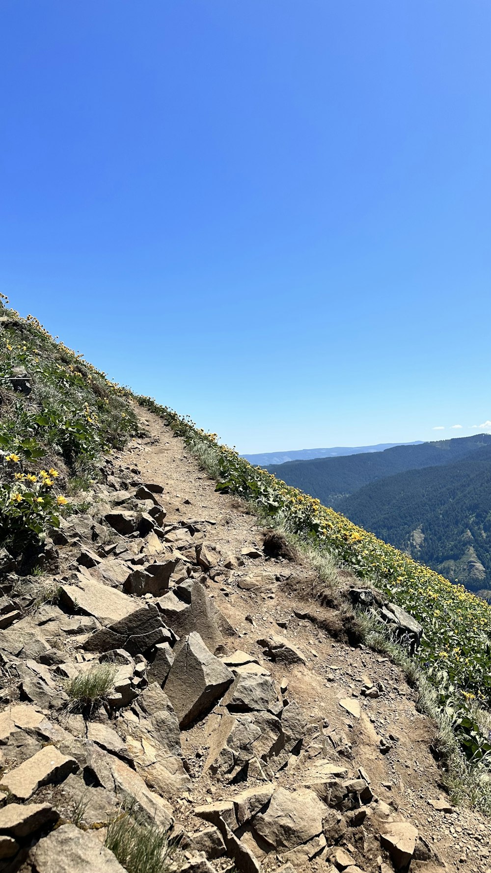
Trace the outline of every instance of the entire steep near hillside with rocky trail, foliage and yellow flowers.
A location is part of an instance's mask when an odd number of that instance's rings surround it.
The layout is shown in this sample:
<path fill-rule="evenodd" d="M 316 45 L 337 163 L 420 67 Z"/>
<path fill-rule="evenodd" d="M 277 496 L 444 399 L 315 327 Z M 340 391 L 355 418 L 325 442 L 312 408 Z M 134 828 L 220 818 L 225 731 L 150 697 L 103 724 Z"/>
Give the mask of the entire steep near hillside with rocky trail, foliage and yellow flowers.
<path fill-rule="evenodd" d="M 0 339 L 0 870 L 487 870 L 488 604 Z"/>

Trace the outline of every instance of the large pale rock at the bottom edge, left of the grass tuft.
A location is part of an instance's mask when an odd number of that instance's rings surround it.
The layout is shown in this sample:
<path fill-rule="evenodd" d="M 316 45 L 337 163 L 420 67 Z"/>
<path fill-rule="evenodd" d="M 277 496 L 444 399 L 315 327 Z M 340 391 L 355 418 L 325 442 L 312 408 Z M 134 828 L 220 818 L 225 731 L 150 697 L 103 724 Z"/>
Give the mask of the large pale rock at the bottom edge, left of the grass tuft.
<path fill-rule="evenodd" d="M 91 831 L 64 824 L 31 849 L 36 873 L 125 873 Z"/>

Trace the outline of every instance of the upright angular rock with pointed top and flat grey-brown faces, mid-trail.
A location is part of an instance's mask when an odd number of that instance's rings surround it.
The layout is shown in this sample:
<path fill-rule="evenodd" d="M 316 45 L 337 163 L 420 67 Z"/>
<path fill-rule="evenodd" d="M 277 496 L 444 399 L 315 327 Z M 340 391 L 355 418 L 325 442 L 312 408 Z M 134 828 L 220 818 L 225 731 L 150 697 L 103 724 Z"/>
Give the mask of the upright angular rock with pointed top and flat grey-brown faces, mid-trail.
<path fill-rule="evenodd" d="M 179 725 L 189 725 L 222 697 L 233 673 L 211 654 L 196 632 L 183 644 L 165 684 L 165 692 L 177 713 Z"/>

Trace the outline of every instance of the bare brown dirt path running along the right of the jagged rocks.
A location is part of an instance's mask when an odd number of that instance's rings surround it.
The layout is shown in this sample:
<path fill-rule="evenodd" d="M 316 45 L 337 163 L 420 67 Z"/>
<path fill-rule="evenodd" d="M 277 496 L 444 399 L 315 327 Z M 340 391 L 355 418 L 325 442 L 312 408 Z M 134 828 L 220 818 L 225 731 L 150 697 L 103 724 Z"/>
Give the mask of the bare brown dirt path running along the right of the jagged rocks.
<path fill-rule="evenodd" d="M 142 420 L 149 430 L 149 440 L 146 444 L 135 441 L 123 453 L 121 462 L 137 467 L 143 479 L 164 486 L 166 521 L 205 518 L 216 522 L 207 542 L 218 546 L 223 554 L 240 555 L 247 546 L 260 549 L 261 528 L 241 510 L 236 499 L 215 491 L 214 483 L 190 456 L 183 440 L 150 413 L 143 413 Z M 430 753 L 435 729 L 416 710 L 414 691 L 401 671 L 387 658 L 363 646 L 355 649 L 335 642 L 312 622 L 299 619 L 294 610 L 305 610 L 305 601 L 288 595 L 277 581 L 248 591 L 239 588 L 239 582 L 248 574 L 273 573 L 285 579 L 296 574 L 301 578 L 304 567 L 264 557 L 245 557 L 244 562 L 245 567 L 232 571 L 228 580 L 209 581 L 210 596 L 238 632 L 229 650 L 239 648 L 252 654 L 260 664 L 267 665 L 278 684 L 287 676 L 288 698 L 305 709 L 310 721 L 334 726 L 348 736 L 356 766 L 368 773 L 374 793 L 418 828 L 441 865 L 448 870 L 489 873 L 488 821 L 468 810 L 437 812 L 429 803 L 445 796 L 439 785 L 439 767 Z M 322 613 L 322 608 L 312 604 L 308 608 Z M 272 633 L 287 636 L 306 657 L 307 665 L 288 669 L 266 661 L 257 640 Z M 380 691 L 378 698 L 360 696 L 367 679 Z M 342 709 L 339 701 L 343 698 L 361 704 L 360 718 Z M 196 734 L 200 731 L 194 728 L 182 734 L 183 753 L 190 759 L 199 745 Z M 389 751 L 381 752 L 381 740 L 387 740 Z M 301 777 L 294 770 L 280 775 L 279 781 L 296 787 Z M 198 780 L 193 802 L 204 802 L 210 792 L 213 800 L 231 794 L 229 786 L 210 786 L 209 780 Z M 435 870 L 442 869 L 440 863 L 434 863 Z M 413 862 L 411 870 L 418 866 Z M 420 866 L 427 873 L 433 870 L 433 862 Z"/>

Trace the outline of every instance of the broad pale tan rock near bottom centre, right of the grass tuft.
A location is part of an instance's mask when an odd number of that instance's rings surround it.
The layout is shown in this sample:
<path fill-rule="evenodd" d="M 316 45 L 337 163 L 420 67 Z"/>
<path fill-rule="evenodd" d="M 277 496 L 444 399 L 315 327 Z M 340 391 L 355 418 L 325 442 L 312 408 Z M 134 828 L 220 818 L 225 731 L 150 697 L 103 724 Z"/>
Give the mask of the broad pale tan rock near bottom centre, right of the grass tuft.
<path fill-rule="evenodd" d="M 313 791 L 277 788 L 265 813 L 256 815 L 253 831 L 273 849 L 294 849 L 322 834 L 328 808 Z"/>

